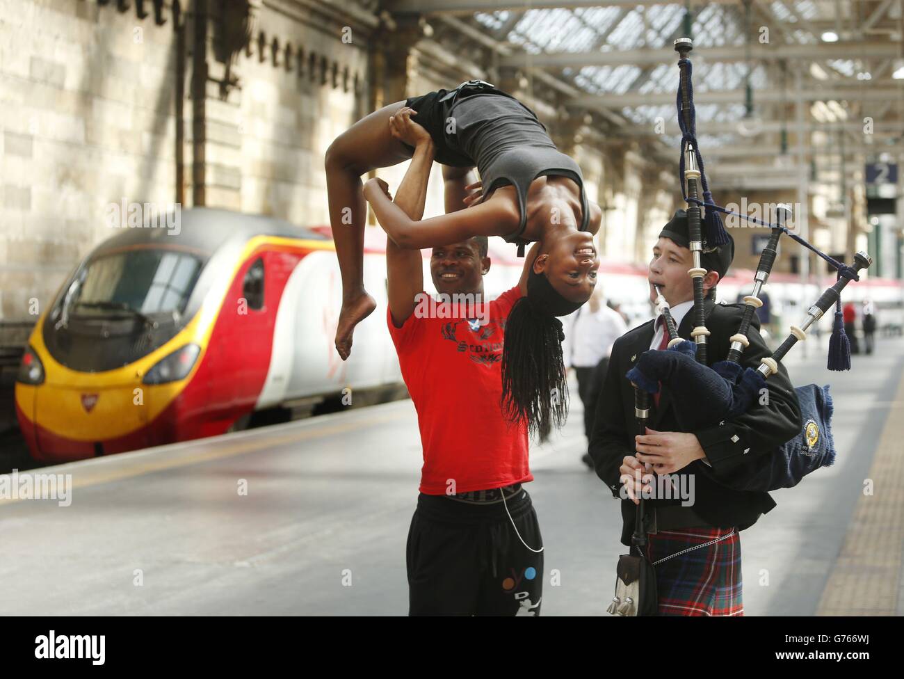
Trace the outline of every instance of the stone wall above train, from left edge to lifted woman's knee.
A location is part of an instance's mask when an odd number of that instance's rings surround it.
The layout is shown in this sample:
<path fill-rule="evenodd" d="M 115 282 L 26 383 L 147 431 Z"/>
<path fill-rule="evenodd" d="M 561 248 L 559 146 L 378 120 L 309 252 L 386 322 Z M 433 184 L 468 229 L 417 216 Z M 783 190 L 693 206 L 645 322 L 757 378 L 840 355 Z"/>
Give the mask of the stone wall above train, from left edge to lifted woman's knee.
<path fill-rule="evenodd" d="M 251 5 L 227 72 L 222 0 L 0 0 L 0 320 L 40 313 L 123 198 L 327 222 L 323 157 L 366 106 L 370 15 Z"/>

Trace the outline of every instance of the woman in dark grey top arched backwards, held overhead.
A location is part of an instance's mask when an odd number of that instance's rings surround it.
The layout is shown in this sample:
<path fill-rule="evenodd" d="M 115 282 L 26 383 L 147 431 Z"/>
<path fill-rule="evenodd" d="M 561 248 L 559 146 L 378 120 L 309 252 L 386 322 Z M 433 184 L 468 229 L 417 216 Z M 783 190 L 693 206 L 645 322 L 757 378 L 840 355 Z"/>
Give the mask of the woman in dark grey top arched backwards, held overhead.
<path fill-rule="evenodd" d="M 398 120 L 396 117 L 399 117 Z M 417 122 L 415 122 L 415 120 Z M 391 121 L 394 123 L 391 125 Z M 476 166 L 482 194 L 469 209 L 414 222 L 381 180 L 361 175 L 411 157 L 412 126 L 426 129 L 443 165 Z M 343 281 L 336 351 L 345 360 L 354 326 L 376 306 L 363 286 L 365 196 L 389 237 L 401 247 L 432 248 L 467 238 L 502 236 L 518 246 L 539 244 L 527 297 L 505 327 L 504 410 L 523 417 L 546 439 L 567 413 L 561 322 L 586 302 L 599 260 L 593 236 L 601 212 L 584 191 L 579 165 L 558 150 L 541 122 L 518 99 L 483 81 L 399 101 L 362 118 L 326 152 L 330 222 Z"/>

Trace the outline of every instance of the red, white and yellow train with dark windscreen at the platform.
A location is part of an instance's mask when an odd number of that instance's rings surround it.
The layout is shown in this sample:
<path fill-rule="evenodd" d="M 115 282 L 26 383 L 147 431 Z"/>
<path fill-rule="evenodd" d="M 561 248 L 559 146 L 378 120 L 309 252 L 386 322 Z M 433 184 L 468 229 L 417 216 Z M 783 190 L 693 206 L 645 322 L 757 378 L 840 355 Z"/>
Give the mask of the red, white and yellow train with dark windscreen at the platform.
<path fill-rule="evenodd" d="M 381 229 L 366 229 L 364 242 L 364 282 L 377 309 L 357 326 L 343 362 L 334 349 L 342 284 L 329 227 L 201 207 L 179 216 L 177 231 L 117 229 L 39 316 L 15 384 L 16 416 L 36 460 L 215 436 L 339 394 L 354 403 L 404 392 L 385 327 Z M 517 284 L 524 260 L 501 239 L 491 239 L 490 257 L 492 298 Z M 603 259 L 600 280 L 629 326 L 651 317 L 645 266 Z M 720 300 L 735 301 L 752 280 L 752 272 L 733 272 L 719 284 Z M 819 289 L 781 274 L 769 284 L 785 325 Z M 871 297 L 880 323 L 901 322 L 899 281 L 867 279 L 845 297 Z"/>

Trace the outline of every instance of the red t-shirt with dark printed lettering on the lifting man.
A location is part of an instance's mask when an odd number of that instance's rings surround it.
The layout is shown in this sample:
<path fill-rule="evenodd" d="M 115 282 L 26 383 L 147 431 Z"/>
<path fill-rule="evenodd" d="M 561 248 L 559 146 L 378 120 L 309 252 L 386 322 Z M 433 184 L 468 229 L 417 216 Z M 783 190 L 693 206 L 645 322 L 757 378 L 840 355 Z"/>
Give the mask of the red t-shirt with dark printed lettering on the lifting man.
<path fill-rule="evenodd" d="M 418 410 L 425 495 L 446 495 L 452 479 L 454 493 L 533 480 L 527 428 L 523 421 L 509 426 L 499 405 L 505 319 L 519 297 L 515 287 L 490 302 L 486 325 L 412 314 L 397 328 L 386 309 L 401 375 Z"/>

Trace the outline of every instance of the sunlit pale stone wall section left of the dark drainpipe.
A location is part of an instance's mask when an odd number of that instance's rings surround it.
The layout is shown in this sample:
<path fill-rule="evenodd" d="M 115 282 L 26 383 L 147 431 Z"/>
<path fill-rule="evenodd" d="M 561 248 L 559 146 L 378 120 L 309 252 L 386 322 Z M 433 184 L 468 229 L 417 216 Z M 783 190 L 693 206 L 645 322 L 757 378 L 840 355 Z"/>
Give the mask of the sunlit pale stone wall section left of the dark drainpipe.
<path fill-rule="evenodd" d="M 0 318 L 24 319 L 108 237 L 105 205 L 173 202 L 174 33 L 88 0 L 0 16 Z"/>

